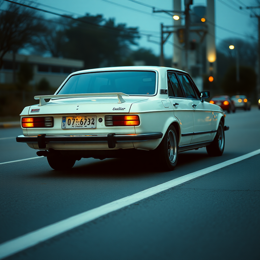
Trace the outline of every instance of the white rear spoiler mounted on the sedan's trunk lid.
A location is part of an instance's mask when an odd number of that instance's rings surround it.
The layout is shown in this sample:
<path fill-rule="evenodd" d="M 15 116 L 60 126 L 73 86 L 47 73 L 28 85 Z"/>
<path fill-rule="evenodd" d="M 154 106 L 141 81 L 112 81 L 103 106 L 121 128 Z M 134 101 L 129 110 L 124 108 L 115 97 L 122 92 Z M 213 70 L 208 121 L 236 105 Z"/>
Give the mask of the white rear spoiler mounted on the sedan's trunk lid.
<path fill-rule="evenodd" d="M 99 97 L 99 96 L 117 96 L 119 102 L 126 102 L 122 96 L 129 96 L 122 92 L 112 92 L 112 93 L 86 93 L 86 94 L 64 94 L 64 95 L 45 95 L 45 96 L 35 96 L 34 99 L 40 99 L 39 106 L 46 105 L 47 102 L 44 99 L 60 99 L 60 98 L 72 98 L 72 97 Z"/>

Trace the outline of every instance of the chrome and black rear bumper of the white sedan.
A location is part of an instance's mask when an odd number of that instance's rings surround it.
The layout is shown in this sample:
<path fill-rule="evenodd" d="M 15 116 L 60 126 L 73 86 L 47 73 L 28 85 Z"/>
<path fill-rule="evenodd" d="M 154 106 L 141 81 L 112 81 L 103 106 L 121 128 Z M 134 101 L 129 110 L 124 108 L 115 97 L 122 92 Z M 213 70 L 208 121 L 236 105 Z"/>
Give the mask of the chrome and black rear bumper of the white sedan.
<path fill-rule="evenodd" d="M 17 142 L 38 143 L 40 149 L 45 149 L 47 143 L 82 143 L 107 142 L 108 148 L 115 148 L 117 142 L 140 142 L 162 138 L 161 132 L 141 134 L 95 134 L 95 135 L 19 135 Z"/>

